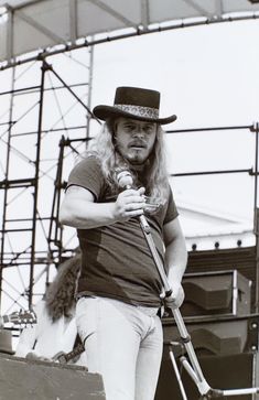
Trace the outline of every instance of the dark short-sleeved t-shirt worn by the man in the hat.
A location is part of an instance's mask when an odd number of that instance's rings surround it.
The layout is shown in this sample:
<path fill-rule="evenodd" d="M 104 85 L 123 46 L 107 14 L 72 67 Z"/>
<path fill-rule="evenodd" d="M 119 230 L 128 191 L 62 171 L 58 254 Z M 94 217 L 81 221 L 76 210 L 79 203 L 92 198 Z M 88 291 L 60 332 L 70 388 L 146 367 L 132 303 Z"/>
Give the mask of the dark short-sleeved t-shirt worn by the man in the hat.
<path fill-rule="evenodd" d="M 119 191 L 110 190 L 98 160 L 89 156 L 71 172 L 68 185 L 90 191 L 97 203 L 115 202 Z M 161 260 L 164 259 L 163 225 L 177 210 L 169 190 L 169 199 L 155 214 L 147 214 L 151 235 Z M 139 218 L 93 229 L 77 229 L 82 249 L 82 275 L 78 294 L 118 299 L 130 304 L 159 306 L 159 272 L 140 226 Z"/>

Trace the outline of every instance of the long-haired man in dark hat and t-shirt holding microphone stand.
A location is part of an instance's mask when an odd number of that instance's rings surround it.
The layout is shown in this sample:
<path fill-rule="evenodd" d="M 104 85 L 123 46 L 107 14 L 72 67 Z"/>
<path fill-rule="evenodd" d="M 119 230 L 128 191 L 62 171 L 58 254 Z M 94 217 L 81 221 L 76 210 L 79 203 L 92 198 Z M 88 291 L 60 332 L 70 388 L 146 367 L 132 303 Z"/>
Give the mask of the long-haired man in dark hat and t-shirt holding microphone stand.
<path fill-rule="evenodd" d="M 155 90 L 119 87 L 114 106 L 95 107 L 105 125 L 72 171 L 61 208 L 61 221 L 77 228 L 83 253 L 78 332 L 88 370 L 102 375 L 107 400 L 152 400 L 159 377 L 163 288 L 141 215 L 168 271 L 172 295 L 166 303 L 179 306 L 184 298 L 187 256 L 161 128 L 176 116 L 159 118 L 159 106 Z M 125 171 L 132 187 L 119 180 Z"/>

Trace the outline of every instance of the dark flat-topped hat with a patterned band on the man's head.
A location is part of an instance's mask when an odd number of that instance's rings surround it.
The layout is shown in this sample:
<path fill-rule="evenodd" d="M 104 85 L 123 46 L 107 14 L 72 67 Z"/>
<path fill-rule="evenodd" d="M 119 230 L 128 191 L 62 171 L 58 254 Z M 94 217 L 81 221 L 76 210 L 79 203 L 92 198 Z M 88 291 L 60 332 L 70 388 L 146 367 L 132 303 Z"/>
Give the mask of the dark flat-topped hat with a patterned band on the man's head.
<path fill-rule="evenodd" d="M 101 119 L 126 117 L 140 121 L 165 125 L 175 121 L 176 116 L 159 118 L 160 93 L 140 87 L 121 86 L 116 89 L 114 106 L 96 106 L 94 115 Z"/>

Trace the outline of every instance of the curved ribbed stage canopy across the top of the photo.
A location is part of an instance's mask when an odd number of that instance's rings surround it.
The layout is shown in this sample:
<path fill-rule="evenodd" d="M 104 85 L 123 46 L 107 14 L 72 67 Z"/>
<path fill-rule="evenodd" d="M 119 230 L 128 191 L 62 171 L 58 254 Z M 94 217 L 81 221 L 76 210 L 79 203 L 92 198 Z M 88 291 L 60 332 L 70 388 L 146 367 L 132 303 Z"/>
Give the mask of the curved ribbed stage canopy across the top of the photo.
<path fill-rule="evenodd" d="M 0 0 L 0 61 L 158 30 L 259 18 L 256 0 Z M 62 48 L 62 47 L 61 47 Z M 35 57 L 35 55 L 34 55 Z M 24 58 L 24 56 L 23 56 Z"/>

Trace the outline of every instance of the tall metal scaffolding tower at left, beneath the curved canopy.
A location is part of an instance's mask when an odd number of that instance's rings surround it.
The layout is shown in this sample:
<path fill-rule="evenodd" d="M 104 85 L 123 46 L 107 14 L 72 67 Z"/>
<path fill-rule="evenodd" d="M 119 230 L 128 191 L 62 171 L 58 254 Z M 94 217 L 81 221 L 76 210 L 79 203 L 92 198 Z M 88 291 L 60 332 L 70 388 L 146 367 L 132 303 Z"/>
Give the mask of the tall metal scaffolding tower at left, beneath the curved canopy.
<path fill-rule="evenodd" d="M 58 207 L 63 173 L 89 138 L 93 47 L 83 53 L 1 73 L 1 314 L 32 306 L 77 246 Z"/>

